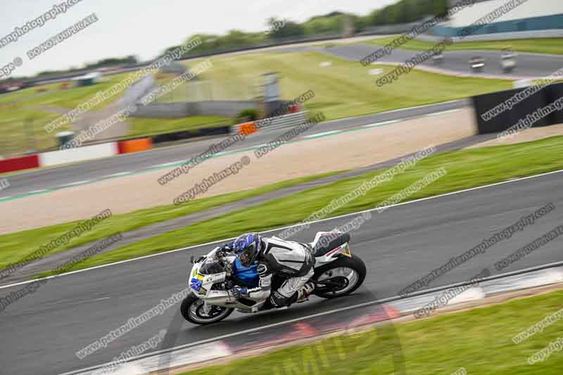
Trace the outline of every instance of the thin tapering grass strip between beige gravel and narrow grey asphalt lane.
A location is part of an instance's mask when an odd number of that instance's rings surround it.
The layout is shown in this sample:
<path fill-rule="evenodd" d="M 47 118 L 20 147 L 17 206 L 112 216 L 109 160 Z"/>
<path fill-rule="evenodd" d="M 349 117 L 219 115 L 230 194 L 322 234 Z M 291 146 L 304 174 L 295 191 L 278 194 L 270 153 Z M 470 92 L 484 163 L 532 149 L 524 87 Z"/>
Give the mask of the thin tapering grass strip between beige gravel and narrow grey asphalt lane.
<path fill-rule="evenodd" d="M 303 184 L 322 177 L 331 176 L 341 172 L 329 172 L 323 174 L 315 174 L 310 177 L 301 177 L 298 179 L 290 179 L 276 184 L 262 186 L 258 189 L 247 191 L 239 191 L 236 193 L 227 193 L 220 196 L 196 199 L 185 205 L 163 205 L 145 210 L 137 210 L 127 214 L 113 215 L 103 220 L 90 231 L 84 232 L 77 239 L 72 239 L 67 245 L 56 248 L 49 254 L 58 253 L 68 248 L 80 246 L 84 243 L 105 239 L 108 236 L 117 234 L 118 232 L 130 231 L 133 229 L 146 227 L 150 224 L 163 222 L 165 220 L 174 219 L 194 212 L 201 212 L 220 205 L 241 201 L 242 199 L 258 196 L 263 193 L 283 189 L 285 187 Z M 182 178 L 182 177 L 180 177 Z M 18 262 L 27 254 L 37 250 L 40 245 L 49 243 L 51 240 L 58 238 L 67 231 L 72 230 L 80 221 L 68 222 L 64 224 L 51 225 L 27 231 L 18 231 L 11 234 L 3 234 L 0 236 L 0 268 Z"/>

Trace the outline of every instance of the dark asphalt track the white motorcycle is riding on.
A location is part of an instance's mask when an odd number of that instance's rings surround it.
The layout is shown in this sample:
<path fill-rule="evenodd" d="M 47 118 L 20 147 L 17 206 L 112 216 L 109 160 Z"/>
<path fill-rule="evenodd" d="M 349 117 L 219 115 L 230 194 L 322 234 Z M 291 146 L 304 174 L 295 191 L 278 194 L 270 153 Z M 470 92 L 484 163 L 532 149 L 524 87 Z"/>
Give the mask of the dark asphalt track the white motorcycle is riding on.
<path fill-rule="evenodd" d="M 374 212 L 372 220 L 352 233 L 351 248 L 365 260 L 368 269 L 364 286 L 354 295 L 341 300 L 314 298 L 285 311 L 234 313 L 215 326 L 185 322 L 177 345 L 397 295 L 452 256 L 473 248 L 543 205 L 555 204 L 555 210 L 535 224 L 443 275 L 429 288 L 466 281 L 484 267 L 495 274 L 494 262 L 563 224 L 562 184 L 563 172 L 556 172 L 398 205 L 380 214 Z M 316 231 L 332 229 L 353 217 L 312 224 L 296 239 L 310 241 Z M 562 261 L 562 244 L 562 239 L 555 239 L 502 272 Z M 210 248 L 200 246 L 52 279 L 33 295 L 0 312 L 0 337 L 6 343 L 0 352 L 0 374 L 60 374 L 82 369 L 110 362 L 123 350 L 156 335 L 169 326 L 179 306 L 84 360 L 75 356 L 77 350 L 117 329 L 127 319 L 186 288 L 189 255 L 207 253 Z M 1 289 L 0 296 L 23 287 Z"/>

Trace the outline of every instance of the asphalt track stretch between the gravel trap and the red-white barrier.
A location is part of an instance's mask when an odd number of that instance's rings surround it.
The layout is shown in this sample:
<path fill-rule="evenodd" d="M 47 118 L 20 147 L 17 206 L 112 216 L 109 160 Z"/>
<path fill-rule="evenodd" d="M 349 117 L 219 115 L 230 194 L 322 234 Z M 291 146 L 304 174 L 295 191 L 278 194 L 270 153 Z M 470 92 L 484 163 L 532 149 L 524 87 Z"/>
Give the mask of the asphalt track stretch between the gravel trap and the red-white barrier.
<path fill-rule="evenodd" d="M 307 132 L 303 132 L 301 136 L 330 132 L 333 130 L 349 129 L 351 127 L 369 125 L 389 120 L 418 117 L 431 113 L 439 113 L 445 110 L 463 108 L 467 106 L 468 103 L 469 102 L 466 100 L 450 101 L 431 106 L 406 108 L 403 110 L 393 110 L 362 117 L 351 117 L 342 120 L 322 122 L 322 124 L 312 127 Z M 227 148 L 226 151 L 267 144 L 267 142 L 272 141 L 272 139 L 284 134 L 284 132 L 287 132 L 288 130 L 289 128 L 272 129 L 267 132 L 251 134 L 243 141 Z M 68 184 L 88 180 L 97 181 L 104 178 L 118 176 L 127 172 L 141 172 L 154 168 L 163 168 L 162 165 L 167 163 L 182 163 L 183 161 L 189 160 L 190 158 L 203 153 L 212 144 L 220 143 L 220 141 L 224 138 L 227 138 L 227 136 L 215 137 L 213 139 L 202 139 L 177 146 L 156 148 L 155 150 L 148 152 L 131 153 L 114 158 L 90 160 L 84 163 L 12 174 L 9 176 L 11 187 L 9 191 L 0 191 L 0 198 L 6 196 L 18 196 L 42 189 L 56 189 L 61 186 L 67 186 Z M 170 169 L 172 169 L 172 167 L 163 169 L 163 172 Z"/>

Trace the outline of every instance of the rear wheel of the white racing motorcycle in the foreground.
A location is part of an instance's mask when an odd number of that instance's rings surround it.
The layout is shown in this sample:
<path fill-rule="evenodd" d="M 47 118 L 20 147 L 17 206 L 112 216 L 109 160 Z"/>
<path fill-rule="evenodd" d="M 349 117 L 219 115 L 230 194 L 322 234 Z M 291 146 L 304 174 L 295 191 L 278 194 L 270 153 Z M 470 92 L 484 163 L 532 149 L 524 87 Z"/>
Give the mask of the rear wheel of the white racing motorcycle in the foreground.
<path fill-rule="evenodd" d="M 315 269 L 315 275 L 312 277 L 315 284 L 322 284 L 322 281 L 332 281 L 338 286 L 334 288 L 315 287 L 313 293 L 322 298 L 337 298 L 348 295 L 362 285 L 366 274 L 363 260 L 355 255 L 352 255 L 352 258 L 341 256 L 334 262 Z"/>

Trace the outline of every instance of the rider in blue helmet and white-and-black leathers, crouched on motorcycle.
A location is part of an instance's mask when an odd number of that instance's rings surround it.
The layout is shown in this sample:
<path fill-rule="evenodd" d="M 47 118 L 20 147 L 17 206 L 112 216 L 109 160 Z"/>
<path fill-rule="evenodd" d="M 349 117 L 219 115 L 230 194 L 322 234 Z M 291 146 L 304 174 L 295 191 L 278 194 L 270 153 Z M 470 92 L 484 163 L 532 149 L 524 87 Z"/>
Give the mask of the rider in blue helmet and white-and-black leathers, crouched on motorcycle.
<path fill-rule="evenodd" d="M 260 281 L 255 288 L 234 287 L 236 298 L 248 298 L 264 308 L 289 306 L 303 302 L 315 288 L 308 282 L 315 273 L 315 257 L 310 246 L 277 237 L 262 237 L 258 233 L 242 234 L 221 248 L 234 253 L 244 267 L 258 263 Z M 272 291 L 272 278 L 281 277 L 283 284 Z"/>

